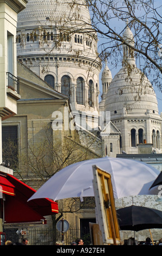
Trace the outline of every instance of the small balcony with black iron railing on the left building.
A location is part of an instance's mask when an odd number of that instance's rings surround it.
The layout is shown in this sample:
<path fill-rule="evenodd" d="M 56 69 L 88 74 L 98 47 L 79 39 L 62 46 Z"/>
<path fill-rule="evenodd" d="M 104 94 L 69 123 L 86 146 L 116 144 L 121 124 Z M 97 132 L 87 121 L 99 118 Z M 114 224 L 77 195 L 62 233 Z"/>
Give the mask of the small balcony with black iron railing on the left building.
<path fill-rule="evenodd" d="M 7 72 L 7 94 L 14 97 L 16 100 L 20 100 L 20 84 L 16 76 Z"/>

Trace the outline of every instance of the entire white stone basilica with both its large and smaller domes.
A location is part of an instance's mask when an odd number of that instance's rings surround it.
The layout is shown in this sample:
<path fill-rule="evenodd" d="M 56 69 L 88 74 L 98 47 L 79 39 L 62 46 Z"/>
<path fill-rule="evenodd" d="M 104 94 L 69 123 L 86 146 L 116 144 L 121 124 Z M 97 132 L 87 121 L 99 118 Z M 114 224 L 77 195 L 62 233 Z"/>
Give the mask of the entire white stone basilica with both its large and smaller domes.
<path fill-rule="evenodd" d="M 134 52 L 123 46 L 122 68 L 113 79 L 105 64 L 102 101 L 98 103 L 102 64 L 89 11 L 85 5 L 71 9 L 68 1 L 54 2 L 30 0 L 27 9 L 18 15 L 17 59 L 68 97 L 80 136 L 95 135 L 102 148 L 100 155 L 105 154 L 105 148 L 113 157 L 122 152 L 138 154 L 140 144 L 149 144 L 151 153 L 161 153 L 162 119 L 156 95 L 147 77 L 136 67 Z M 75 20 L 74 13 L 78 14 Z M 123 38 L 134 45 L 128 27 Z M 109 112 L 106 132 L 107 123 L 101 127 L 98 121 L 103 112 Z"/>

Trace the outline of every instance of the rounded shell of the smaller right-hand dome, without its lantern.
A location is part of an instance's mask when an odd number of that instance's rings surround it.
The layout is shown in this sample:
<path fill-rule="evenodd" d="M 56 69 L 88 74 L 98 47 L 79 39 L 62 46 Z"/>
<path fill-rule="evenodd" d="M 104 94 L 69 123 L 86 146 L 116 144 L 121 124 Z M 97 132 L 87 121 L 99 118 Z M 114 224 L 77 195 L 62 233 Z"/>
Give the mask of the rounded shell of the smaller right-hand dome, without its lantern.
<path fill-rule="evenodd" d="M 130 74 L 127 67 L 123 67 L 111 81 L 105 97 L 105 111 L 111 112 L 111 118 L 120 117 L 124 108 L 132 116 L 139 113 L 145 115 L 148 110 L 154 115 L 158 114 L 153 87 L 136 67 L 132 68 Z"/>

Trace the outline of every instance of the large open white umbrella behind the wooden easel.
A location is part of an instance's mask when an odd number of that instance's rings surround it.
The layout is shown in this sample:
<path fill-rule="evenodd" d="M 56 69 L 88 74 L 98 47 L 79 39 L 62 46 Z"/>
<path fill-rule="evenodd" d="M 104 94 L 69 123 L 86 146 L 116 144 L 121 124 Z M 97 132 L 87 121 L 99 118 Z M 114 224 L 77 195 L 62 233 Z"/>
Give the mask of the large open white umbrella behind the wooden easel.
<path fill-rule="evenodd" d="M 94 196 L 92 166 L 111 174 L 114 198 L 149 194 L 149 187 L 159 170 L 135 160 L 102 157 L 71 164 L 54 174 L 29 200 L 36 198 L 58 199 Z"/>

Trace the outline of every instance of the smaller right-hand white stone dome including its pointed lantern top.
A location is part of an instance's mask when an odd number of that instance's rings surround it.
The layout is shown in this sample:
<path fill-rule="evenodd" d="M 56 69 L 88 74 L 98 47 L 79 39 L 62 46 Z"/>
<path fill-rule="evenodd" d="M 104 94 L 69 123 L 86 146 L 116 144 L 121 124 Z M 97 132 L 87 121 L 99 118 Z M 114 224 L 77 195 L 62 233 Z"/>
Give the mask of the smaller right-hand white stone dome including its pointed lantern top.
<path fill-rule="evenodd" d="M 151 114 L 158 117 L 158 102 L 152 84 L 135 65 L 133 33 L 127 26 L 123 39 L 122 68 L 115 75 L 105 97 L 105 111 L 111 112 L 111 119 L 127 116 L 143 117 Z"/>

